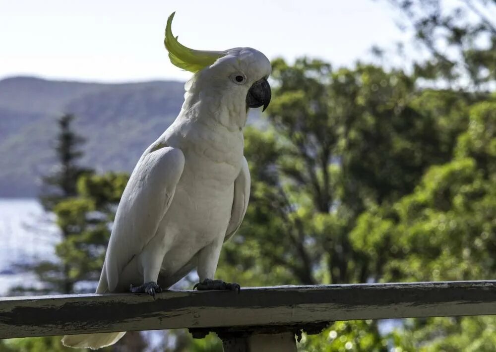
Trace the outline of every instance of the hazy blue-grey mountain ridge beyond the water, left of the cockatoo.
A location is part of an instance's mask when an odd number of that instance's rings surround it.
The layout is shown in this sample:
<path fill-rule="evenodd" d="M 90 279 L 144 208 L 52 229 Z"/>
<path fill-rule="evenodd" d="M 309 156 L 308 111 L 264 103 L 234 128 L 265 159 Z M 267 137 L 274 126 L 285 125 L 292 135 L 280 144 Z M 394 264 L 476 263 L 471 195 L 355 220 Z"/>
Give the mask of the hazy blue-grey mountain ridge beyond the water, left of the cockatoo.
<path fill-rule="evenodd" d="M 0 197 L 37 194 L 40 177 L 55 162 L 55 121 L 63 113 L 76 116 L 75 127 L 86 138 L 82 165 L 131 171 L 176 118 L 183 95 L 184 83 L 173 81 L 0 80 Z"/>

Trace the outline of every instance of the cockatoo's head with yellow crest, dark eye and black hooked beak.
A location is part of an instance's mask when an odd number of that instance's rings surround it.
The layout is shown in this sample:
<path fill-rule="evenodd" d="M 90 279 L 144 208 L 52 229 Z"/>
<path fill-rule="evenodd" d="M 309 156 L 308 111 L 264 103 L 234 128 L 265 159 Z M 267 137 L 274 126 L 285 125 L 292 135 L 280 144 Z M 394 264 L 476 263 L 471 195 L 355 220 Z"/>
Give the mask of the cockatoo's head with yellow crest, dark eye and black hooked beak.
<path fill-rule="evenodd" d="M 230 101 L 246 102 L 246 108 L 267 108 L 271 91 L 267 77 L 270 61 L 251 48 L 225 51 L 201 51 L 185 47 L 172 34 L 172 13 L 167 20 L 165 47 L 171 62 L 179 68 L 195 73 L 195 84 L 222 94 Z"/>

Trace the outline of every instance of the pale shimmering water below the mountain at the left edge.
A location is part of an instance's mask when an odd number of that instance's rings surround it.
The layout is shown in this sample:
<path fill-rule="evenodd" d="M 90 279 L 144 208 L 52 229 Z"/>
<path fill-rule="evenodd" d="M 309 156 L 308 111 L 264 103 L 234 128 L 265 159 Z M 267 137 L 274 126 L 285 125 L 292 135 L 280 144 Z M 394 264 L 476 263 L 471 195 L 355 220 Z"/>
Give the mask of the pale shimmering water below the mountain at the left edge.
<path fill-rule="evenodd" d="M 36 199 L 0 198 L 0 295 L 23 280 L 35 280 L 16 264 L 55 260 L 59 241 L 53 220 Z"/>

